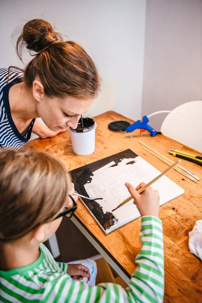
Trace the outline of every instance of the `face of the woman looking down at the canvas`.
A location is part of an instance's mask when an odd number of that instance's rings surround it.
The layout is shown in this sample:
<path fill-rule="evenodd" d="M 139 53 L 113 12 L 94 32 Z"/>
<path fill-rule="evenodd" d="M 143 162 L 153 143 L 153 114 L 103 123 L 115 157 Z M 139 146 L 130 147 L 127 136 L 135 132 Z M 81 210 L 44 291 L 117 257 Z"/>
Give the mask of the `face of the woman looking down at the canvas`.
<path fill-rule="evenodd" d="M 92 102 L 93 99 L 87 98 L 79 99 L 72 96 L 59 98 L 43 95 L 36 109 L 49 129 L 59 131 L 69 127 L 77 128 L 80 116 L 88 111 Z"/>

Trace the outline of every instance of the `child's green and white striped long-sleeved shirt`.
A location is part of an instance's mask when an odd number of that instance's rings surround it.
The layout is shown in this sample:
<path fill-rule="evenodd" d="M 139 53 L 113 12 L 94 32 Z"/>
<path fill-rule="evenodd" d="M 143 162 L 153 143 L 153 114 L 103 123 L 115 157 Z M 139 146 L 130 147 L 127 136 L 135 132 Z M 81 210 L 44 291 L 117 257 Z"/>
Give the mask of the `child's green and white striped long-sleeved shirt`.
<path fill-rule="evenodd" d="M 89 286 L 73 281 L 66 263 L 58 264 L 49 250 L 40 244 L 40 257 L 31 265 L 0 271 L 0 301 L 4 303 L 38 302 L 163 302 L 164 254 L 162 221 L 142 217 L 142 248 L 129 287 L 102 283 Z"/>

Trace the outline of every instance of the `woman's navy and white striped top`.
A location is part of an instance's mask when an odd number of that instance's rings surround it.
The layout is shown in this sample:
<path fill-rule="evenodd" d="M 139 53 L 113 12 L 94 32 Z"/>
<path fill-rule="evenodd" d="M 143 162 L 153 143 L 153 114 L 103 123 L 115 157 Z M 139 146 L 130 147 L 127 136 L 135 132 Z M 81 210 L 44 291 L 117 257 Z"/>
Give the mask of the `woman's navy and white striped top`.
<path fill-rule="evenodd" d="M 9 104 L 9 89 L 16 83 L 23 81 L 23 73 L 17 69 L 10 69 L 9 83 L 8 69 L 0 68 L 0 148 L 21 148 L 29 139 L 35 119 L 32 119 L 24 136 L 20 134 L 11 116 Z"/>

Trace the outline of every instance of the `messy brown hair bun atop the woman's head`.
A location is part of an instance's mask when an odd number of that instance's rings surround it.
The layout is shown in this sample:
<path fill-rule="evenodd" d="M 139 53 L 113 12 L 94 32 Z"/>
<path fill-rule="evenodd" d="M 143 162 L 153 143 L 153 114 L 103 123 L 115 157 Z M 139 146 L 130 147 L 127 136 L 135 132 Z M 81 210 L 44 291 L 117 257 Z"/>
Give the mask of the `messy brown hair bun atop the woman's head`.
<path fill-rule="evenodd" d="M 33 19 L 24 25 L 23 32 L 19 39 L 26 43 L 28 49 L 39 53 L 48 44 L 60 39 L 60 36 L 47 21 Z"/>

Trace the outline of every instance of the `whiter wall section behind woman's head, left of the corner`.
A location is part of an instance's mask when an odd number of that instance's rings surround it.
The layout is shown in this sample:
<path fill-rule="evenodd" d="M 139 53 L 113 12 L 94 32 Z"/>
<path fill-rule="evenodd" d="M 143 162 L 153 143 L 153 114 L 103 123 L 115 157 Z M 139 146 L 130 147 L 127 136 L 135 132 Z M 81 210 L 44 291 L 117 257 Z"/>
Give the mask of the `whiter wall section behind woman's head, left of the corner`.
<path fill-rule="evenodd" d="M 22 66 L 11 35 L 17 26 L 41 18 L 79 42 L 103 78 L 103 93 L 93 107 L 109 104 L 132 119 L 141 114 L 146 0 L 4 0 L 1 2 L 0 66 Z M 27 60 L 25 60 L 27 62 Z M 92 110 L 93 110 L 92 107 Z M 96 110 L 96 109 L 94 109 Z M 100 112 L 98 111 L 98 113 Z"/>

